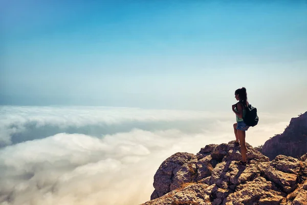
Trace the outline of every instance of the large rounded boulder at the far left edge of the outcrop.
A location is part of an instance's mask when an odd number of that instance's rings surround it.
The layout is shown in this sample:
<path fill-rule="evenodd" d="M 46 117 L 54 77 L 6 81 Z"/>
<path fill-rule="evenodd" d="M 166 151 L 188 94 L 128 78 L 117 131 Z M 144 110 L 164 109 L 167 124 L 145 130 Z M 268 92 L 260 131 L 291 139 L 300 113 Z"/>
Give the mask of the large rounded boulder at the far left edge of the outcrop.
<path fill-rule="evenodd" d="M 187 152 L 178 152 L 163 161 L 153 177 L 153 187 L 157 194 L 152 193 L 151 199 L 178 189 L 183 183 L 195 182 L 196 162 L 196 156 Z"/>

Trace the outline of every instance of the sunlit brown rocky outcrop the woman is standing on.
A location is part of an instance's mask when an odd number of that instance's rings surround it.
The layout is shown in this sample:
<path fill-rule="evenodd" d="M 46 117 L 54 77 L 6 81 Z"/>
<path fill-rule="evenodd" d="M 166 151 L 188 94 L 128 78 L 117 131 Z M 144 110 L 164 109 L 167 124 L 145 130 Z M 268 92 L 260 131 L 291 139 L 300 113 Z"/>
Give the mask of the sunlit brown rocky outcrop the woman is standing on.
<path fill-rule="evenodd" d="M 247 166 L 239 146 L 207 145 L 196 155 L 176 153 L 159 167 L 153 204 L 307 204 L 307 161 L 278 155 L 272 161 L 247 144 Z M 303 160 L 304 159 L 304 160 Z"/>

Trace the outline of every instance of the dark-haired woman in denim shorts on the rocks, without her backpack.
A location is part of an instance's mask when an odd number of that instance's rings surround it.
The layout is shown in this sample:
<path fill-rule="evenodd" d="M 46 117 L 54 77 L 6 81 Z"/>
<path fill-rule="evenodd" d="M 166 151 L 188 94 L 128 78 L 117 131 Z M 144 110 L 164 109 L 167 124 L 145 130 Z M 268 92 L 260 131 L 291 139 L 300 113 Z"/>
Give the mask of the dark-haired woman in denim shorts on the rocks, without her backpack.
<path fill-rule="evenodd" d="M 243 120 L 246 114 L 246 107 L 249 105 L 247 101 L 246 88 L 239 88 L 234 92 L 234 97 L 238 100 L 238 103 L 232 105 L 232 111 L 236 116 L 236 123 L 233 124 L 234 135 L 235 135 L 235 145 L 240 145 L 242 160 L 239 161 L 240 165 L 246 165 L 246 146 L 245 146 L 245 131 L 248 130 L 247 126 Z"/>

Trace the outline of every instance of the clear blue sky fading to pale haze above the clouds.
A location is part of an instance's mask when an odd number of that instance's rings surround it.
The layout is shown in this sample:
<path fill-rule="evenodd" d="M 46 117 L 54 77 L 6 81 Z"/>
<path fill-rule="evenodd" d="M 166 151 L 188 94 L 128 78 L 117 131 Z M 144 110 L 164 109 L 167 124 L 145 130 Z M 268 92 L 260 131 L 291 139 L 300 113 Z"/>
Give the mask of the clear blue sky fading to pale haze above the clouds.
<path fill-rule="evenodd" d="M 307 105 L 306 1 L 0 4 L 2 105 Z"/>

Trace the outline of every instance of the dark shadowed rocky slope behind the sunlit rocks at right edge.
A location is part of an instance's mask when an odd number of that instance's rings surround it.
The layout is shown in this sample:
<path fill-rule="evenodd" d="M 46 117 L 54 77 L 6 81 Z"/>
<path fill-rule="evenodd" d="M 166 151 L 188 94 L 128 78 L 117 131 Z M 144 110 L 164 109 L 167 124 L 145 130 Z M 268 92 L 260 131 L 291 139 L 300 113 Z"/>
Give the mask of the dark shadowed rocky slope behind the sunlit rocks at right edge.
<path fill-rule="evenodd" d="M 282 134 L 267 140 L 262 154 L 274 159 L 277 155 L 300 157 L 307 152 L 307 112 L 292 118 Z"/>

